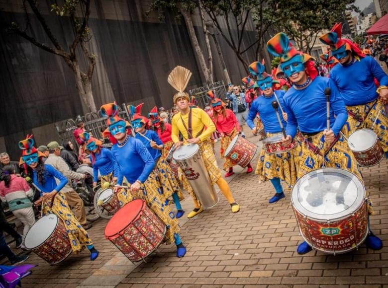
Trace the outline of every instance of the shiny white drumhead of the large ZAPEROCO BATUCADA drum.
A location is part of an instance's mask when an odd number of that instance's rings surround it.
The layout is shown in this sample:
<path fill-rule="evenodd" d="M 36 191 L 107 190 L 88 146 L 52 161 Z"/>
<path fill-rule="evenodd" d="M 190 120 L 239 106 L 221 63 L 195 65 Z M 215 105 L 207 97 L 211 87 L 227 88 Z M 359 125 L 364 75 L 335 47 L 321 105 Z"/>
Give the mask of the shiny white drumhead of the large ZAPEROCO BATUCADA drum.
<path fill-rule="evenodd" d="M 340 168 L 320 168 L 296 181 L 291 201 L 302 215 L 332 220 L 354 213 L 365 196 L 364 185 L 353 173 Z"/>

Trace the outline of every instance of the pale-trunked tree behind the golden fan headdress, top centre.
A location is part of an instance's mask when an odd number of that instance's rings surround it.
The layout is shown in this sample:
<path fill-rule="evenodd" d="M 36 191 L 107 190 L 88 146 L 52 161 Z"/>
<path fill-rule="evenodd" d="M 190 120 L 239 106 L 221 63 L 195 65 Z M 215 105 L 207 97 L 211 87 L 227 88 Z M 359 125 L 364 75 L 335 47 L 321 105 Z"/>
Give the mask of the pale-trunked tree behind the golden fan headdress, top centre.
<path fill-rule="evenodd" d="M 192 41 L 195 54 L 197 56 L 199 66 L 201 71 L 203 72 L 206 84 L 210 84 L 214 82 L 213 78 L 213 56 L 210 49 L 210 40 L 209 40 L 209 32 L 205 25 L 203 8 L 196 0 L 153 0 L 150 4 L 149 10 L 147 14 L 151 11 L 159 11 L 159 18 L 164 18 L 165 9 L 171 9 L 173 11 L 177 11 L 180 15 L 183 16 L 185 20 L 186 27 L 188 29 L 190 39 Z M 202 21 L 202 31 L 205 38 L 206 43 L 206 52 L 207 52 L 207 60 L 205 60 L 205 55 L 202 51 L 202 48 L 199 45 L 198 38 L 195 34 L 194 24 L 192 20 L 192 15 L 194 13 L 195 8 L 199 9 L 199 16 Z"/>

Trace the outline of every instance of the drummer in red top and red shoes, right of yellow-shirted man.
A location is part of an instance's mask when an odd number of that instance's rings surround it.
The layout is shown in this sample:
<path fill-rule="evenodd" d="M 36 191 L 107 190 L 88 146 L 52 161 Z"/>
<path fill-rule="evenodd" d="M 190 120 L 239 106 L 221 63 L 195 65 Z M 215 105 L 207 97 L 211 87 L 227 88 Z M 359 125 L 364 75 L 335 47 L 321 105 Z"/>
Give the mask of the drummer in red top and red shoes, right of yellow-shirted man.
<path fill-rule="evenodd" d="M 233 138 L 237 134 L 241 134 L 241 128 L 233 111 L 226 109 L 225 103 L 223 103 L 221 99 L 216 98 L 213 91 L 210 90 L 207 92 L 207 98 L 209 98 L 211 107 L 215 111 L 213 116 L 215 127 L 217 128 L 217 131 L 221 133 L 222 137 L 220 155 L 221 158 L 225 160 L 222 168 L 226 171 L 226 178 L 233 175 L 234 172 L 232 161 L 225 157 L 225 150 L 228 148 Z M 251 163 L 249 163 L 247 167 L 247 174 L 249 174 L 253 171 Z"/>

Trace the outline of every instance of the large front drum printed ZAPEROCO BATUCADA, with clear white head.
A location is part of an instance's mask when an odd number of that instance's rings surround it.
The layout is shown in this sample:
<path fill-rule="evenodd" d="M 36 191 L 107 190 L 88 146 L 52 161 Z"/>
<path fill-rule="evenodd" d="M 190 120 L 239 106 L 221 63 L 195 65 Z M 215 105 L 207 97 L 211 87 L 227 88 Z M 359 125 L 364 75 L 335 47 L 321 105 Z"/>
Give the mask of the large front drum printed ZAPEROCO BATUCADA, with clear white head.
<path fill-rule="evenodd" d="M 291 202 L 303 239 L 329 254 L 345 253 L 368 236 L 363 183 L 340 168 L 320 168 L 299 178 Z"/>

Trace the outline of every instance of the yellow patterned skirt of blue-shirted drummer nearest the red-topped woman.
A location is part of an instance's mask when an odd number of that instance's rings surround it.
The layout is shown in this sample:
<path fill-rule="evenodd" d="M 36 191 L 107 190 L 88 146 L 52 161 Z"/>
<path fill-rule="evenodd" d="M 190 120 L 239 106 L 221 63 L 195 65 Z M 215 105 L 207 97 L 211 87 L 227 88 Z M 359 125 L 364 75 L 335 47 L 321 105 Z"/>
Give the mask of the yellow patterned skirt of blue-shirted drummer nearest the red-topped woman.
<path fill-rule="evenodd" d="M 266 135 L 272 137 L 277 134 L 267 133 Z M 293 186 L 296 182 L 296 169 L 292 150 L 280 154 L 268 154 L 263 146 L 255 173 L 259 175 L 260 181 L 280 178 L 289 186 Z"/>

